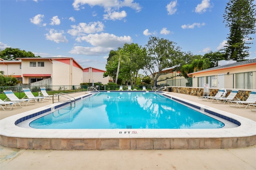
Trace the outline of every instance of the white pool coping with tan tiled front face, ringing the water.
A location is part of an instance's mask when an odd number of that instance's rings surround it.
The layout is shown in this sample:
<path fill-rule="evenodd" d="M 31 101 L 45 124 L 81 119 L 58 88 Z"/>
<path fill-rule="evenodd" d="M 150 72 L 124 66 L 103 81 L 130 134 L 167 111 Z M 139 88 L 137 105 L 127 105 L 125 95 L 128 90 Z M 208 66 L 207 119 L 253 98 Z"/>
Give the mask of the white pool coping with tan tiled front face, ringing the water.
<path fill-rule="evenodd" d="M 162 94 L 180 102 L 196 105 L 200 109 L 218 113 L 223 117 L 229 117 L 238 121 L 240 126 L 219 129 L 34 129 L 21 128 L 14 123 L 31 113 L 68 104 L 64 101 L 2 119 L 0 144 L 10 148 L 52 150 L 209 149 L 240 148 L 256 144 L 256 131 L 253 130 L 256 129 L 255 121 L 168 93 Z M 88 95 L 92 93 L 75 99 L 80 100 Z"/>

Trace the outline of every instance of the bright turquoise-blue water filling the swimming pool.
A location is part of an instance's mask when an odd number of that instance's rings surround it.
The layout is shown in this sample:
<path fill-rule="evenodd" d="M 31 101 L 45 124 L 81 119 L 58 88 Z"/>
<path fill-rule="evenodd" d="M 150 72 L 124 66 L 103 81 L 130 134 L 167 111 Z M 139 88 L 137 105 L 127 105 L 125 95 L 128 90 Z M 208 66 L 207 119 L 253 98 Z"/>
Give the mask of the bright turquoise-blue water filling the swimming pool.
<path fill-rule="evenodd" d="M 224 123 L 157 93 L 98 93 L 30 123 L 42 129 L 221 128 Z"/>

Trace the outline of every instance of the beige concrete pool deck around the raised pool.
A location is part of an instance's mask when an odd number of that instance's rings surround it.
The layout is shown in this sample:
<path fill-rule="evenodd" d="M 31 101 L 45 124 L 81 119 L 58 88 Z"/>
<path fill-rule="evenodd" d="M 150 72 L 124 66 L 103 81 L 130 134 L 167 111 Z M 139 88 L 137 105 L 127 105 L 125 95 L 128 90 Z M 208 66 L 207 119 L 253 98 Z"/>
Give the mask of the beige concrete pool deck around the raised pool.
<path fill-rule="evenodd" d="M 256 121 L 256 112 L 171 95 Z M 84 94 L 84 93 L 83 93 Z M 72 94 L 74 97 L 81 93 Z M 0 110 L 0 119 L 49 105 L 37 103 L 13 111 Z M 256 129 L 252 129 L 255 131 Z M 0 146 L 0 168 L 5 169 L 256 169 L 256 145 L 232 149 L 194 150 L 20 150 Z"/>

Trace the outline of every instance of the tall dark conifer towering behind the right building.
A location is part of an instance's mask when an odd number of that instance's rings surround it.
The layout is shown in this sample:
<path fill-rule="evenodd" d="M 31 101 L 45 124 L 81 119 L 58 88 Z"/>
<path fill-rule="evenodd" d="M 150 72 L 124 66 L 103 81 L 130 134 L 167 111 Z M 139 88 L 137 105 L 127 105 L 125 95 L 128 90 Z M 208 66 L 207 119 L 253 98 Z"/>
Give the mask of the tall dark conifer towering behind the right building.
<path fill-rule="evenodd" d="M 226 59 L 237 61 L 249 56 L 248 45 L 255 34 L 255 4 L 254 0 L 229 0 L 225 8 L 224 22 L 229 27 L 228 41 L 224 49 Z"/>

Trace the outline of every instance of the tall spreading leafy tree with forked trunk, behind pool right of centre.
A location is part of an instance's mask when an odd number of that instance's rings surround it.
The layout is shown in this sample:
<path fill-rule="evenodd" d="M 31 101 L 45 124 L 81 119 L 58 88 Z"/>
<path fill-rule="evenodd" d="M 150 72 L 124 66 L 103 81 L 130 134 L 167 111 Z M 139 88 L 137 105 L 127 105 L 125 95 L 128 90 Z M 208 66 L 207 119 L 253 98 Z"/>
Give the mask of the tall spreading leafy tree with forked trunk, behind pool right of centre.
<path fill-rule="evenodd" d="M 144 73 L 152 75 L 154 86 L 156 86 L 158 77 L 168 74 L 163 69 L 174 67 L 180 63 L 182 58 L 181 48 L 176 46 L 175 42 L 151 36 L 148 44 L 146 44 L 146 49 Z"/>

